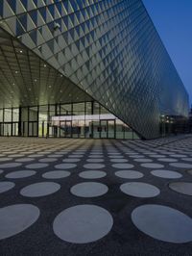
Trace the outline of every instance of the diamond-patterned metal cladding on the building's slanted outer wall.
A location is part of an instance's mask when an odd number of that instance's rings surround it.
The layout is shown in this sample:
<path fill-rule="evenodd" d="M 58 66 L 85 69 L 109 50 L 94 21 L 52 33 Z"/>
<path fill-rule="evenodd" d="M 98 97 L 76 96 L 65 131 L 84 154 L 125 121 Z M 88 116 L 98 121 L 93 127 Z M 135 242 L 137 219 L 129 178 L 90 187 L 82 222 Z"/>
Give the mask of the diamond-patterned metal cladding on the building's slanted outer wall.
<path fill-rule="evenodd" d="M 146 139 L 188 95 L 141 0 L 4 0 L 3 27 Z"/>

